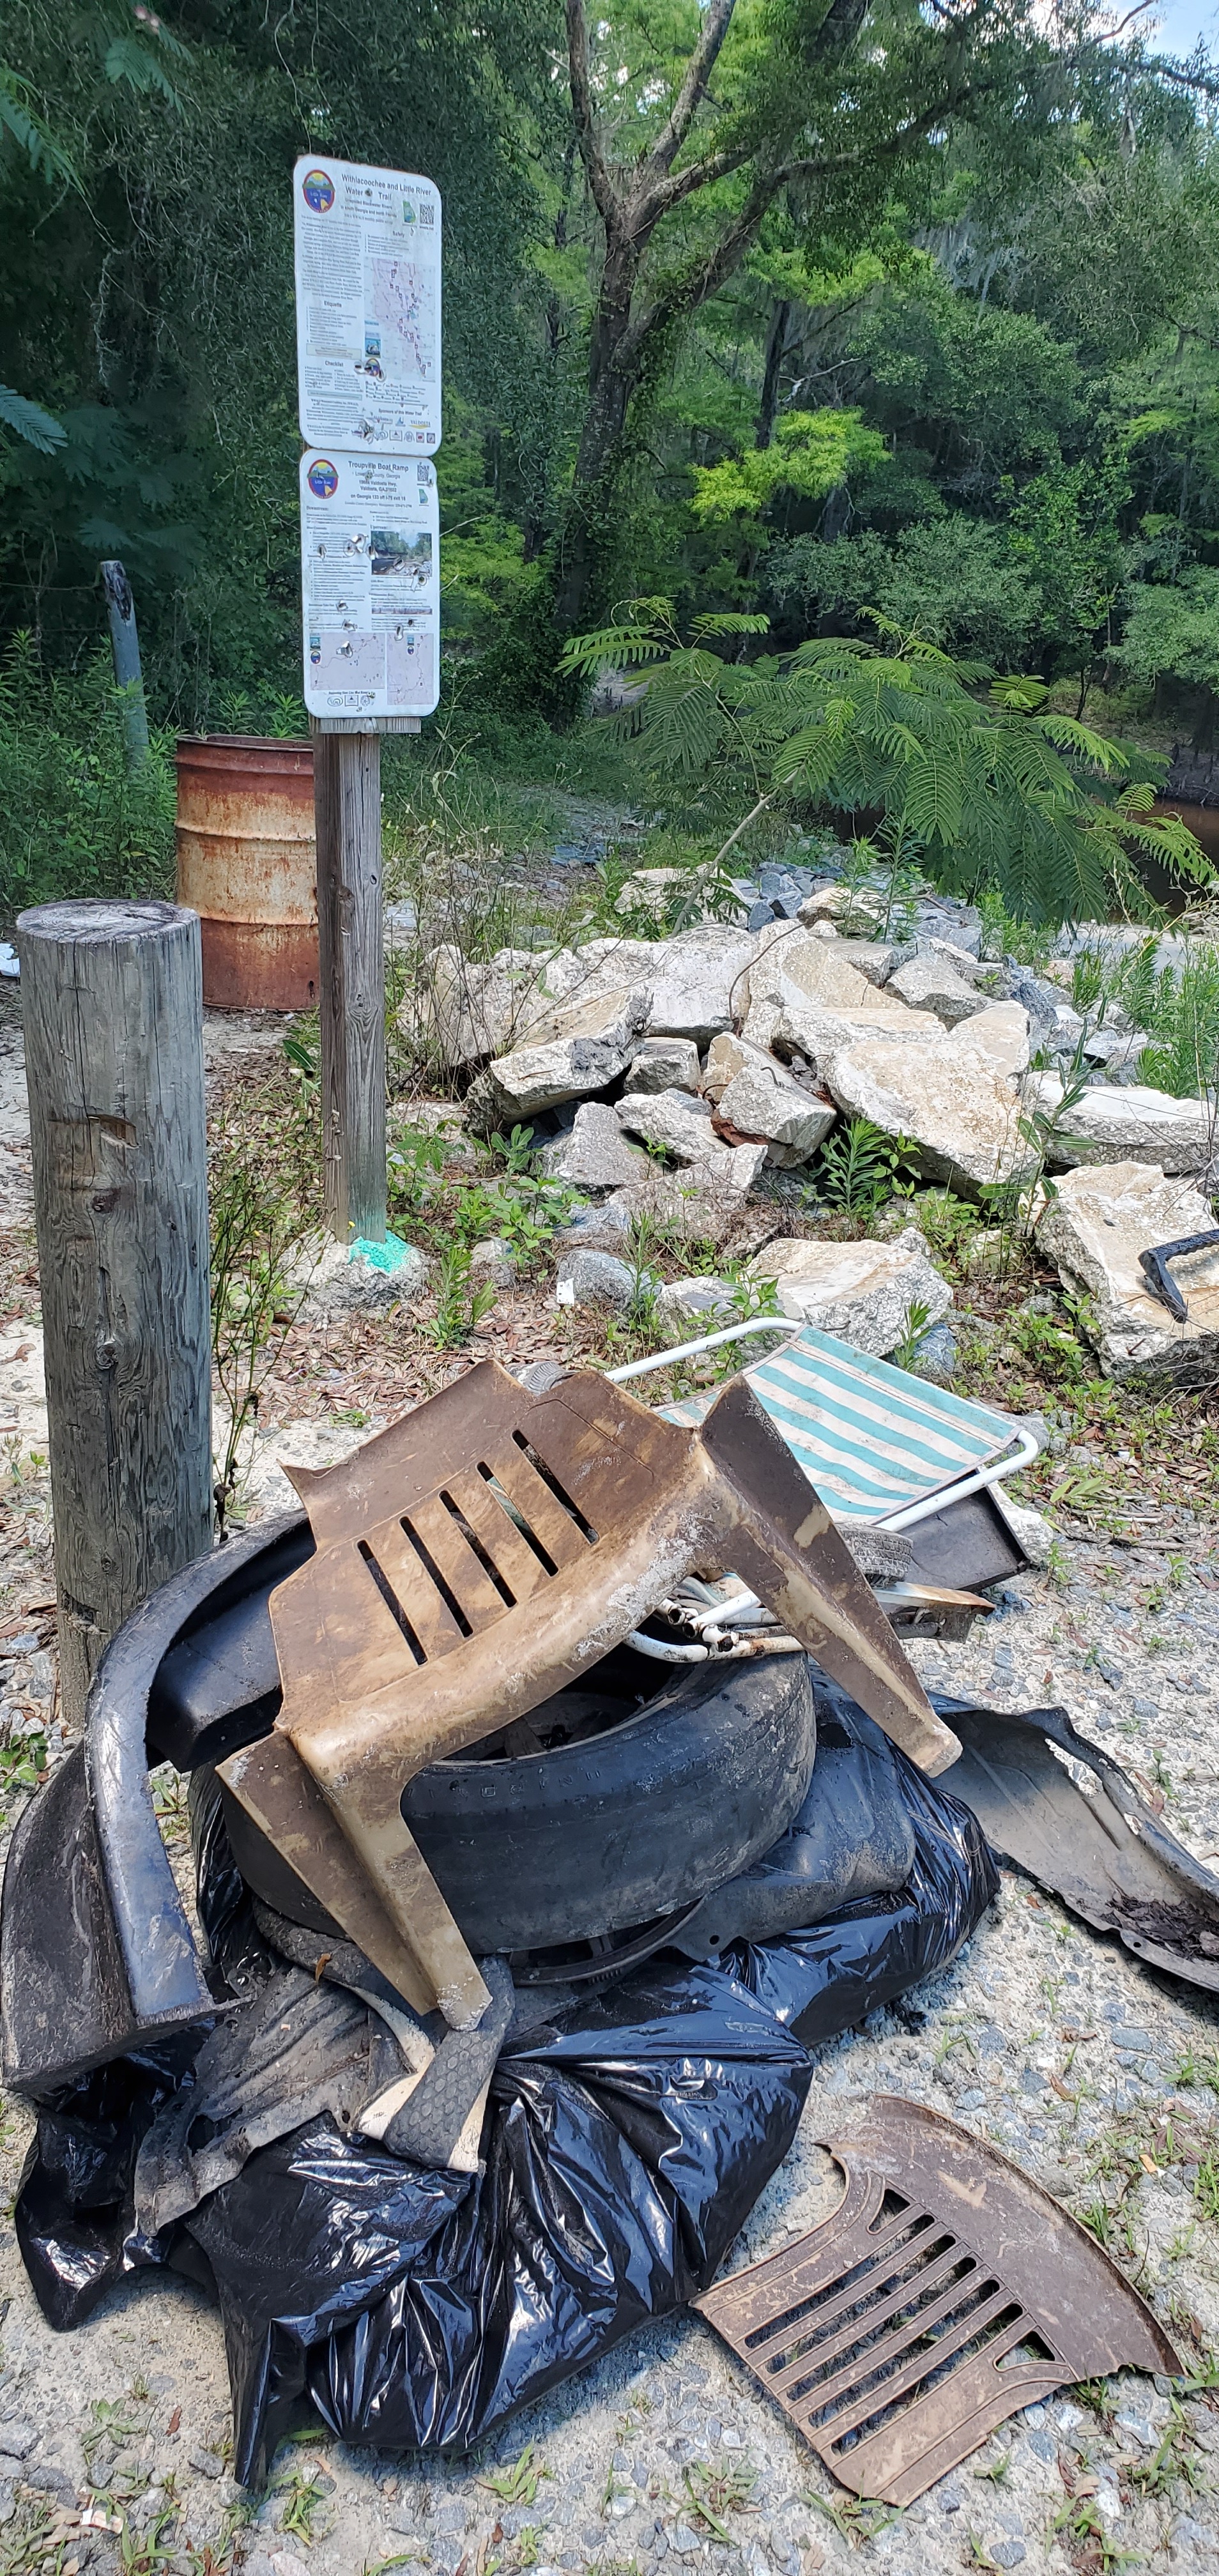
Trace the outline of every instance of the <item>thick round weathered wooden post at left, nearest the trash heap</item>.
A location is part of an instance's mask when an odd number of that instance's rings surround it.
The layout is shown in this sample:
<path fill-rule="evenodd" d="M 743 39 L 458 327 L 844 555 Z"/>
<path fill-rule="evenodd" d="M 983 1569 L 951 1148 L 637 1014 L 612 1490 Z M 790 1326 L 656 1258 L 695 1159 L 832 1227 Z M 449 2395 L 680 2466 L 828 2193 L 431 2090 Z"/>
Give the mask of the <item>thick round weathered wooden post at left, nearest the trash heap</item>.
<path fill-rule="evenodd" d="M 18 920 L 59 1669 L 211 1546 L 211 1298 L 198 914 Z"/>

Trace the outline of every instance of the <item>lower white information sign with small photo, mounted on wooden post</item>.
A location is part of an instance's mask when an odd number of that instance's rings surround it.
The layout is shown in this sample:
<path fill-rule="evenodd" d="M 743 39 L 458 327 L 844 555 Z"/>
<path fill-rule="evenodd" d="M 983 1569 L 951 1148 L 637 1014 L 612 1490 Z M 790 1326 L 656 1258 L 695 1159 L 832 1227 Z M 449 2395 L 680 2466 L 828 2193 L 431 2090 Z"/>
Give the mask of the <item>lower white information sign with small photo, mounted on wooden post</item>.
<path fill-rule="evenodd" d="M 430 716 L 441 696 L 441 523 L 425 456 L 302 456 L 304 703 Z"/>

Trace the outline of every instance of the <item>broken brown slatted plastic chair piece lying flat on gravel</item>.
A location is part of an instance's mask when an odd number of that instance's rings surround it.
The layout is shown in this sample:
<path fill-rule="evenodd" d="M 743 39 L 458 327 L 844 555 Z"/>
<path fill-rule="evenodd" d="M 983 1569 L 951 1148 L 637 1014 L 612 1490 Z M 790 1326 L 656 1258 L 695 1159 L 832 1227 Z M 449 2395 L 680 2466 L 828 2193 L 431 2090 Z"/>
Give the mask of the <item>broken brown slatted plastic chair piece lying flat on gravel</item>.
<path fill-rule="evenodd" d="M 693 2306 L 856 2496 L 912 2504 L 1070 2380 L 1180 2370 L 1108 2254 L 984 2141 L 879 2097 L 825 2143 L 832 2218 Z"/>

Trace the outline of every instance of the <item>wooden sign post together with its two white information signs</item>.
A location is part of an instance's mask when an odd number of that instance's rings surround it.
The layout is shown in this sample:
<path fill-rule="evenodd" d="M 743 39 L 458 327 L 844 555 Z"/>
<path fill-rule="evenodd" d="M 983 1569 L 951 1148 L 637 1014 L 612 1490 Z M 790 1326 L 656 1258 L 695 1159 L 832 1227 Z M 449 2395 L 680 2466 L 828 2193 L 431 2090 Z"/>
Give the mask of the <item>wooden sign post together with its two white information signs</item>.
<path fill-rule="evenodd" d="M 340 1242 L 381 1244 L 381 734 L 418 734 L 441 690 L 441 198 L 299 160 L 294 204 L 325 1206 Z"/>

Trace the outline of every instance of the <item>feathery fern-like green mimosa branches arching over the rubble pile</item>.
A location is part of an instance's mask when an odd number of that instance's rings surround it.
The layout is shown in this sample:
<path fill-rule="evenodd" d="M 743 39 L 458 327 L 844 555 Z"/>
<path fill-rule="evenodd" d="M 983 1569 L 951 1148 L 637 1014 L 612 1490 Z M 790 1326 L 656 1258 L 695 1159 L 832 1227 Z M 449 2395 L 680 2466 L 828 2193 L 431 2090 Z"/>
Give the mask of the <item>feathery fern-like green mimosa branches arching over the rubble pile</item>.
<path fill-rule="evenodd" d="M 1152 762 L 1054 714 L 1039 680 L 982 696 L 982 672 L 917 636 L 814 639 L 740 665 L 670 634 L 665 605 L 652 621 L 662 659 L 634 719 L 644 778 L 670 809 L 879 806 L 892 860 L 917 855 L 946 891 L 990 889 L 1033 922 L 1103 917 L 1113 889 L 1137 899 L 1131 848 L 1178 881 L 1211 878 L 1185 824 L 1152 822 L 1152 786 L 1131 775 Z M 634 659 L 644 639 L 644 626 L 629 631 Z M 567 659 L 611 654 L 603 631 Z"/>

